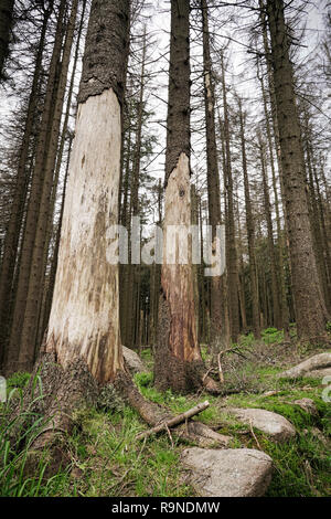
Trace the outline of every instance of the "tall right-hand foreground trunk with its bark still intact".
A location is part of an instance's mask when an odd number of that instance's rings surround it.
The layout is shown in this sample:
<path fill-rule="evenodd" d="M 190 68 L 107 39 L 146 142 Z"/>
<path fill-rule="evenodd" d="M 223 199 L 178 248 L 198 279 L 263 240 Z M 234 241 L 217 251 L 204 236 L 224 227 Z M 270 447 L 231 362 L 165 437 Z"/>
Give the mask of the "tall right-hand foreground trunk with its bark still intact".
<path fill-rule="evenodd" d="M 275 95 L 298 335 L 325 338 L 328 314 L 319 283 L 305 191 L 302 142 L 282 0 L 268 0 Z"/>

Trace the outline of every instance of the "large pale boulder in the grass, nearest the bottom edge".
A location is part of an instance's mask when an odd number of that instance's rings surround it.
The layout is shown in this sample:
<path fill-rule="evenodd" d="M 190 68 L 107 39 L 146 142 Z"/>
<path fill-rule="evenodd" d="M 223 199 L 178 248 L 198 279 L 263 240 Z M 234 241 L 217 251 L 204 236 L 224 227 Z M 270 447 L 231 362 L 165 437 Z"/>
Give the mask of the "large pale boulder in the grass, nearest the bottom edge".
<path fill-rule="evenodd" d="M 250 448 L 186 448 L 184 479 L 201 497 L 261 497 L 271 481 L 273 460 Z"/>

